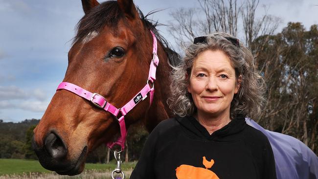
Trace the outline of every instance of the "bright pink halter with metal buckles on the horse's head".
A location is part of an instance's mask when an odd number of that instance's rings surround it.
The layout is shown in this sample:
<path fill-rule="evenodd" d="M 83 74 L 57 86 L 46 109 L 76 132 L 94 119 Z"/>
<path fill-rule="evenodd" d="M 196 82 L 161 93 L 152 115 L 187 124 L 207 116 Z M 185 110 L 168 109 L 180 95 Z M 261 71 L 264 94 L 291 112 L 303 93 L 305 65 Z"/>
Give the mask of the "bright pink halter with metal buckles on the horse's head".
<path fill-rule="evenodd" d="M 120 126 L 120 137 L 117 138 L 117 141 L 115 142 L 109 142 L 107 146 L 109 148 L 113 148 L 114 145 L 119 145 L 121 146 L 121 150 L 124 150 L 125 148 L 125 140 L 126 140 L 126 125 L 125 125 L 125 115 L 132 110 L 136 104 L 138 104 L 139 101 L 144 100 L 147 98 L 148 92 L 150 93 L 150 105 L 152 104 L 152 100 L 154 97 L 154 81 L 156 80 L 156 69 L 159 64 L 159 58 L 157 55 L 157 38 L 155 34 L 150 30 L 152 37 L 153 37 L 153 58 L 151 59 L 151 64 L 150 64 L 150 69 L 149 69 L 149 75 L 148 75 L 148 80 L 143 87 L 142 90 L 140 90 L 127 104 L 125 104 L 121 108 L 116 108 L 107 100 L 101 96 L 100 94 L 97 93 L 91 93 L 88 90 L 84 90 L 83 88 L 76 86 L 72 83 L 68 82 L 62 82 L 60 85 L 57 87 L 57 90 L 68 90 L 71 91 L 89 101 L 91 101 L 96 107 L 103 109 L 107 112 L 110 112 L 114 115 L 114 117 L 118 120 L 119 126 Z M 152 83 L 152 87 L 149 85 L 149 81 Z M 117 118 L 119 112 L 121 112 L 121 116 L 119 119 Z"/>

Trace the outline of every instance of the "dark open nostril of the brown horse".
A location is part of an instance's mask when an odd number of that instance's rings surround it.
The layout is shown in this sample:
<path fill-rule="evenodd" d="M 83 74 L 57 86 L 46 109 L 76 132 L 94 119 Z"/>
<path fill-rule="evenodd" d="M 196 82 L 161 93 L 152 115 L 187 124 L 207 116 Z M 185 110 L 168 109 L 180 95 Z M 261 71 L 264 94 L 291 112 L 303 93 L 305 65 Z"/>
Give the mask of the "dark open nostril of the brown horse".
<path fill-rule="evenodd" d="M 67 154 L 67 148 L 61 138 L 56 134 L 48 134 L 45 138 L 45 148 L 55 159 L 63 158 Z"/>

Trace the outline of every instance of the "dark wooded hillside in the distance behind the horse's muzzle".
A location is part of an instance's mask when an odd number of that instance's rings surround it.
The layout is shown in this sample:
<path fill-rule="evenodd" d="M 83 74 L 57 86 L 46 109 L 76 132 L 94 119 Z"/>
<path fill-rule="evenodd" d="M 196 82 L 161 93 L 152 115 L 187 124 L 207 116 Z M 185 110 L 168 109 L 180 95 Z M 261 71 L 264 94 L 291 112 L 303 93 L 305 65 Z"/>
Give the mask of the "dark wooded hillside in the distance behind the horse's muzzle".
<path fill-rule="evenodd" d="M 37 159 L 32 146 L 31 139 L 33 129 L 39 123 L 39 119 L 25 119 L 19 123 L 3 122 L 0 119 L 0 158 Z M 140 123 L 130 126 L 127 134 L 126 151 L 122 156 L 127 160 L 134 161 L 140 156 L 148 132 Z M 125 152 L 126 152 L 125 151 Z M 101 145 L 86 157 L 89 163 L 105 163 L 114 159 L 106 145 Z"/>

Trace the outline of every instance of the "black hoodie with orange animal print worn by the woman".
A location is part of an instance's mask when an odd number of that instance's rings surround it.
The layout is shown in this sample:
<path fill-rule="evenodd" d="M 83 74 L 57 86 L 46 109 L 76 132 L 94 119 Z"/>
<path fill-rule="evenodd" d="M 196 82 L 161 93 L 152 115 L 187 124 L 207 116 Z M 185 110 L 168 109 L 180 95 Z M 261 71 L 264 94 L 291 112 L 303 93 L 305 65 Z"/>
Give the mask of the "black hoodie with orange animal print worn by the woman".
<path fill-rule="evenodd" d="M 192 116 L 167 119 L 149 135 L 130 179 L 177 176 L 276 179 L 273 151 L 267 137 L 247 125 L 244 116 L 211 135 Z"/>

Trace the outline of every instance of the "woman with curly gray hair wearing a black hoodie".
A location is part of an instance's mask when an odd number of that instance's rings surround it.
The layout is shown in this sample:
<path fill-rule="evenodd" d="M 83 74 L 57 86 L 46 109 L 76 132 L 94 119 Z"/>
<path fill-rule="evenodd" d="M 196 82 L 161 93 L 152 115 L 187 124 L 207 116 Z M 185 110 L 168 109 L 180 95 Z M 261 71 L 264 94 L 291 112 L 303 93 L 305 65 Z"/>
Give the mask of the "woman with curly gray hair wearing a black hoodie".
<path fill-rule="evenodd" d="M 264 101 L 253 60 L 227 33 L 195 38 L 172 75 L 168 103 L 181 117 L 149 135 L 131 179 L 276 179 L 267 137 L 245 122 Z"/>

